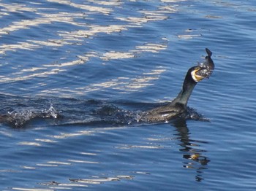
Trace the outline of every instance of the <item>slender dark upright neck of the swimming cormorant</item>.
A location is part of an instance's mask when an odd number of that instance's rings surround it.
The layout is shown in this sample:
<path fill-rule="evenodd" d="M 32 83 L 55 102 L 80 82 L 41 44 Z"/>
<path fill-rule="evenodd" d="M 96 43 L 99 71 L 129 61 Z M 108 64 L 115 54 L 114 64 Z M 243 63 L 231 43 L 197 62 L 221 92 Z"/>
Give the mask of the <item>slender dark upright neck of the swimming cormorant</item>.
<path fill-rule="evenodd" d="M 195 85 L 197 85 L 197 82 L 192 79 L 190 72 L 188 72 L 184 79 L 181 92 L 178 93 L 171 104 L 181 103 L 184 104 L 184 106 L 187 106 L 187 102 L 189 101 L 189 97 L 192 94 Z"/>

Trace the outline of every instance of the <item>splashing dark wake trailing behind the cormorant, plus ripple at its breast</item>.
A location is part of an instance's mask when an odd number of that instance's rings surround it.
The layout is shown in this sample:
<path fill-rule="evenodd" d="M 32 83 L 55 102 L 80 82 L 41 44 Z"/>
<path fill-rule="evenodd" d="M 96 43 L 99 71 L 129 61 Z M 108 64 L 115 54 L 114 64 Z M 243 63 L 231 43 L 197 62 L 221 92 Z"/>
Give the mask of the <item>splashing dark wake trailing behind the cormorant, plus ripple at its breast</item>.
<path fill-rule="evenodd" d="M 10 95 L 8 98 L 10 99 Z M 5 98 L 1 96 L 1 100 L 3 99 Z M 141 125 L 148 123 L 142 118 L 141 108 L 151 109 L 162 105 L 127 101 L 82 101 L 74 98 L 19 98 L 15 96 L 11 99 L 15 100 L 15 104 L 5 104 L 5 107 L 2 107 L 0 120 L 1 123 L 12 128 L 33 128 L 38 125 L 90 125 L 90 127 Z M 7 108 L 8 111 L 4 111 Z M 189 107 L 177 118 L 208 120 Z"/>

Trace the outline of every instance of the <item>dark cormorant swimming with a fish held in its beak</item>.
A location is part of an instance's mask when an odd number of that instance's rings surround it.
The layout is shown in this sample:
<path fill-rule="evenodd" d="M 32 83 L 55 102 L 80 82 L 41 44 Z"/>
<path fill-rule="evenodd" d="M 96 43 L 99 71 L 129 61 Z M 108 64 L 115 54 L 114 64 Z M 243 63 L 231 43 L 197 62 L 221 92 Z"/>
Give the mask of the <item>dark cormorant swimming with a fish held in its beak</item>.
<path fill-rule="evenodd" d="M 164 106 L 148 110 L 141 114 L 141 121 L 146 122 L 160 122 L 168 121 L 174 117 L 178 117 L 180 114 L 186 111 L 187 102 L 192 94 L 192 91 L 197 85 L 197 82 L 204 78 L 210 77 L 214 70 L 214 62 L 211 60 L 212 52 L 206 48 L 207 56 L 204 63 L 193 66 L 187 71 L 187 75 L 184 79 L 181 92 L 178 93 L 177 97 L 170 103 Z"/>

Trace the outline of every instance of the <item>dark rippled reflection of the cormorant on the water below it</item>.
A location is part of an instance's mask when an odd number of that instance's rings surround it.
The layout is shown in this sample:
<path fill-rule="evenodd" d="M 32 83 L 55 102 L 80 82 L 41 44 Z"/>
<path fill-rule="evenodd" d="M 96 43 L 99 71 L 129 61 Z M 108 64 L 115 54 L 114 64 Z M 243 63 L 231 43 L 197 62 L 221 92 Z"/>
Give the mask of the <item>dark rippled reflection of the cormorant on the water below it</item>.
<path fill-rule="evenodd" d="M 183 163 L 184 168 L 195 169 L 197 175 L 195 180 L 201 182 L 203 180 L 203 170 L 207 169 L 207 165 L 210 162 L 209 158 L 205 156 L 206 150 L 198 149 L 200 144 L 207 144 L 205 141 L 197 141 L 190 138 L 189 129 L 187 128 L 186 120 L 178 119 L 173 122 L 173 125 L 176 127 L 178 133 L 175 134 L 179 141 L 181 152 L 183 152 L 183 157 L 187 162 Z"/>

